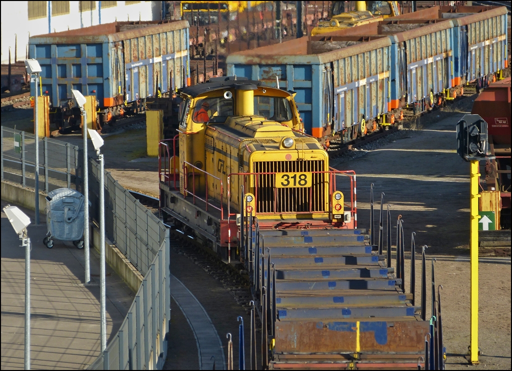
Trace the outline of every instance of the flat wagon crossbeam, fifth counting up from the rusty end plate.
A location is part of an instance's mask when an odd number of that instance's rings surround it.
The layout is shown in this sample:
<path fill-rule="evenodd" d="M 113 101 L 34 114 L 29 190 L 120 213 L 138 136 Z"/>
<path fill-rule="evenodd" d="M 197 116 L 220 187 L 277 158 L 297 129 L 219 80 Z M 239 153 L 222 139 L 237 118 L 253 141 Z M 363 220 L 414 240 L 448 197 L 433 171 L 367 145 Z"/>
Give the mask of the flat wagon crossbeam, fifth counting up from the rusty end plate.
<path fill-rule="evenodd" d="M 270 256 L 270 262 L 278 269 L 306 268 L 306 267 L 337 267 L 371 265 L 380 266 L 379 261 L 384 260 L 383 255 L 336 255 L 336 256 Z"/>

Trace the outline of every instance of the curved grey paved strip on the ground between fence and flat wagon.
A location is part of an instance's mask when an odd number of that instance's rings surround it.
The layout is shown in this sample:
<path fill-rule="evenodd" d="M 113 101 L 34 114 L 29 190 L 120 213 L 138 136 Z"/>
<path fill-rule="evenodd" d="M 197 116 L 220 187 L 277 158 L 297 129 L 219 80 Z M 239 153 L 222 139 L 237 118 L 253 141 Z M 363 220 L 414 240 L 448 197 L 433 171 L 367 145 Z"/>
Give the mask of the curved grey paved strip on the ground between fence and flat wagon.
<path fill-rule="evenodd" d="M 199 369 L 226 369 L 222 342 L 201 303 L 174 275 L 170 275 L 170 293 L 194 332 Z M 214 358 L 212 358 L 214 357 Z"/>

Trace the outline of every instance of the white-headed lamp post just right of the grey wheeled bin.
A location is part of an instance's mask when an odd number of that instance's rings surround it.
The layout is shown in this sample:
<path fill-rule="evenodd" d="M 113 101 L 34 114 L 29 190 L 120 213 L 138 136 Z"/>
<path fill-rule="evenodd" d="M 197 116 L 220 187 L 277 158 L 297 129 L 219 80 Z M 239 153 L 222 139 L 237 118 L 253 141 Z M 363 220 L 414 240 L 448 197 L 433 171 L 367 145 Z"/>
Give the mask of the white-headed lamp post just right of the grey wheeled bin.
<path fill-rule="evenodd" d="M 83 226 L 83 246 L 85 248 L 86 258 L 86 283 L 91 281 L 91 264 L 89 255 L 89 164 L 87 161 L 87 112 L 84 110 L 83 105 L 86 104 L 86 98 L 78 90 L 71 90 L 78 106 L 80 107 L 80 116 L 83 118 L 83 219 L 85 224 Z"/>

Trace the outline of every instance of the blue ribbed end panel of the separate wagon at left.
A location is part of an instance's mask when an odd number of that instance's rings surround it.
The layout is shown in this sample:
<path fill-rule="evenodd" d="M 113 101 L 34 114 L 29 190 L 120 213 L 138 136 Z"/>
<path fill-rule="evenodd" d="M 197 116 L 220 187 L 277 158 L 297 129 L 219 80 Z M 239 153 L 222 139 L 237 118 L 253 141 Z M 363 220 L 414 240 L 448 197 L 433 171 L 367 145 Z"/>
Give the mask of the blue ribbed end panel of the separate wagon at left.
<path fill-rule="evenodd" d="M 111 70 L 108 61 L 108 43 L 55 44 L 32 43 L 30 58 L 41 66 L 38 94 L 50 97 L 53 107 L 60 107 L 72 98 L 71 90 L 83 95 L 95 95 L 100 104 L 110 95 Z M 42 87 L 41 87 L 42 85 Z M 31 95 L 35 94 L 35 82 L 31 83 Z"/>

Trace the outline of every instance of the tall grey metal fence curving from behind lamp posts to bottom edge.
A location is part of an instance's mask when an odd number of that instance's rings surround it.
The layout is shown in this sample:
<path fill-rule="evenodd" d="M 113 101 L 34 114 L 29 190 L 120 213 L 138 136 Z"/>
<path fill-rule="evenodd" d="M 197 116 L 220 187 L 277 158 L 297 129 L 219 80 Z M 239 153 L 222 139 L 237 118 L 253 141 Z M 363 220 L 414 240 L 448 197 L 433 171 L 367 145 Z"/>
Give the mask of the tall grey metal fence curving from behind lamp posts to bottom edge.
<path fill-rule="evenodd" d="M 99 164 L 90 161 L 91 217 L 98 220 Z M 144 275 L 121 328 L 90 369 L 161 369 L 170 319 L 169 230 L 105 171 L 105 233 Z"/>

